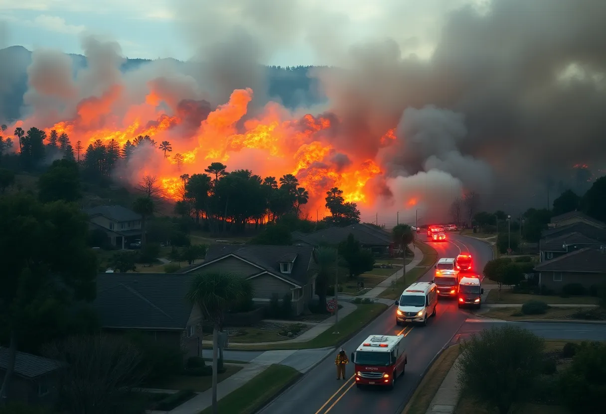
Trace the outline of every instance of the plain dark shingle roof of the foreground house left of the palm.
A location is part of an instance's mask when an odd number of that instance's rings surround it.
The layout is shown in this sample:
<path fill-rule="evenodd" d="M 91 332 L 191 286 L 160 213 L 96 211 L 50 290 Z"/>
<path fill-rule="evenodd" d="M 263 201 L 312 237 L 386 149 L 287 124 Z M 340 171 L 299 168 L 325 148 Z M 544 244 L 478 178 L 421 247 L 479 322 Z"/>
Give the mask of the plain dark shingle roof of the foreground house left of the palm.
<path fill-rule="evenodd" d="M 102 273 L 94 302 L 102 327 L 185 329 L 192 275 Z"/>

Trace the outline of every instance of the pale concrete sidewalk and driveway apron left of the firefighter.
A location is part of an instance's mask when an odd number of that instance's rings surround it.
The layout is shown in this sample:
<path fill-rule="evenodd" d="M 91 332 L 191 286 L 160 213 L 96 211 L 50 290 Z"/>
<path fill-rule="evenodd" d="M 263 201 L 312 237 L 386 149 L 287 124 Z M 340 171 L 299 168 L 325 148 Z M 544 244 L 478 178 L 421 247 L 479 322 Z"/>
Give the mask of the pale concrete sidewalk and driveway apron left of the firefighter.
<path fill-rule="evenodd" d="M 334 352 L 334 348 L 273 350 L 264 352 L 246 364 L 242 370 L 217 384 L 217 400 L 224 398 L 224 396 L 248 383 L 248 381 L 255 378 L 255 376 L 259 375 L 271 364 L 282 364 L 305 373 Z M 184 402 L 169 413 L 199 414 L 199 412 L 211 406 L 212 398 L 212 389 L 208 389 L 189 401 Z"/>

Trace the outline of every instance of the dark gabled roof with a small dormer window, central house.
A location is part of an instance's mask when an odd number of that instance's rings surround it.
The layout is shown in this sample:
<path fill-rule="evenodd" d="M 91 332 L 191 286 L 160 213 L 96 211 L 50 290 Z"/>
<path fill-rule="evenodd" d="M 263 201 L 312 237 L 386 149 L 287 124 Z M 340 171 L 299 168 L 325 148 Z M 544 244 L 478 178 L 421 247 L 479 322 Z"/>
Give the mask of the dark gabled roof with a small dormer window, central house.
<path fill-rule="evenodd" d="M 231 256 L 247 261 L 247 263 L 258 269 L 253 274 L 244 276 L 253 277 L 268 273 L 288 283 L 302 287 L 309 281 L 308 270 L 312 254 L 313 246 L 211 245 L 208 248 L 204 263 L 182 269 L 181 272 L 203 272 L 204 266 Z M 284 260 L 284 258 L 290 260 Z M 279 263 L 284 261 L 290 262 L 293 258 L 295 262 L 290 274 L 280 272 Z"/>

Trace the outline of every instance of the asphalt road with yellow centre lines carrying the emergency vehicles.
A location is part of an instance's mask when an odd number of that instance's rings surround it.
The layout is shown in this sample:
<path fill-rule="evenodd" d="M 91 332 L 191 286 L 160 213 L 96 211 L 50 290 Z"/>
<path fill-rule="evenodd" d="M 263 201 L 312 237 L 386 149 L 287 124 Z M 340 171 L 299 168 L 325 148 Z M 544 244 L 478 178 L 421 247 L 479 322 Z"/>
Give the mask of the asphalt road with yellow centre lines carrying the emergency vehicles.
<path fill-rule="evenodd" d="M 448 237 L 450 241 L 446 243 L 431 243 L 438 251 L 438 257 L 456 257 L 461 252 L 470 252 L 477 269 L 483 269 L 484 264 L 493 258 L 490 246 L 480 240 L 451 234 Z M 424 234 L 419 234 L 419 238 L 424 240 Z M 431 280 L 433 271 L 433 268 L 428 269 L 420 280 Z M 437 316 L 432 318 L 426 327 L 401 327 L 395 323 L 395 306 L 392 306 L 343 347 L 349 355 L 368 335 L 404 333 L 408 364 L 406 372 L 398 379 L 394 390 L 358 389 L 353 383 L 351 364 L 347 367 L 348 380 L 337 381 L 334 356 L 328 356 L 298 383 L 264 407 L 260 413 L 399 414 L 421 381 L 421 376 L 431 360 L 442 347 L 450 343 L 468 315 L 466 310 L 458 309 L 454 300 L 444 299 L 438 304 Z"/>

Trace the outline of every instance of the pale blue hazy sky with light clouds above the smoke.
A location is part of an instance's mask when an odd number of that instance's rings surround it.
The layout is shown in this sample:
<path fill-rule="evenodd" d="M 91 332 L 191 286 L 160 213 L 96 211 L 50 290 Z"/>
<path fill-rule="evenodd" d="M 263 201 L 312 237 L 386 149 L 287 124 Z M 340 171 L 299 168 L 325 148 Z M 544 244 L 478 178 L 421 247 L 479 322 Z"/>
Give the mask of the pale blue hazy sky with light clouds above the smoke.
<path fill-rule="evenodd" d="M 219 23 L 214 18 L 211 22 L 221 28 L 253 25 L 253 30 L 261 33 L 264 25 L 270 25 L 271 29 L 264 34 L 274 38 L 288 32 L 284 36 L 286 41 L 271 41 L 265 62 L 268 64 L 330 63 L 315 53 L 321 40 L 309 39 L 318 33 L 319 37 L 339 36 L 344 39 L 343 45 L 393 38 L 401 45 L 402 53 L 427 56 L 439 35 L 445 13 L 465 3 L 482 1 L 0 0 L 0 20 L 5 22 L 8 33 L 0 47 L 22 45 L 30 50 L 50 47 L 81 53 L 79 35 L 92 33 L 117 40 L 128 57 L 188 59 L 198 46 L 195 36 L 202 36 L 197 31 L 193 33 L 191 27 L 195 23 L 191 23 L 199 16 L 201 25 L 208 25 L 208 16 L 220 15 Z M 276 4 L 280 7 L 274 7 Z M 325 56 L 326 51 L 323 53 Z"/>

